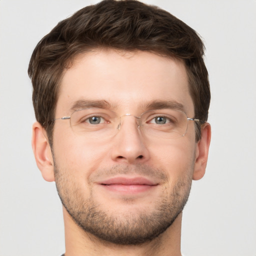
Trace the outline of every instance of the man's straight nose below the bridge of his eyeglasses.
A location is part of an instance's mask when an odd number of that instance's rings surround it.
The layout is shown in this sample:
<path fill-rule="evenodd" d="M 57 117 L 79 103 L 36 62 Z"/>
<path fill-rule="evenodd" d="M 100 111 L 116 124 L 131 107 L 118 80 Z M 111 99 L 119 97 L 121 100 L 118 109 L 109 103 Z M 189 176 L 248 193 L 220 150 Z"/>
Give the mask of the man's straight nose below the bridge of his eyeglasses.
<path fill-rule="evenodd" d="M 121 117 L 118 132 L 113 138 L 112 160 L 123 163 L 142 163 L 149 159 L 144 136 L 139 129 L 138 118 L 132 115 Z"/>

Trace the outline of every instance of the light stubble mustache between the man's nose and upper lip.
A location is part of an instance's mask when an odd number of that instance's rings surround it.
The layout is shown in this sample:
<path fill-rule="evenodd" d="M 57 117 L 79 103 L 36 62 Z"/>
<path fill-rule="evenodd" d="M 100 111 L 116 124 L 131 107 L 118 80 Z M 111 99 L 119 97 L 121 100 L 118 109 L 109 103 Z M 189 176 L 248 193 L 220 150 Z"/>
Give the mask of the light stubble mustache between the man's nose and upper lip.
<path fill-rule="evenodd" d="M 168 176 L 163 170 L 153 168 L 145 164 L 135 164 L 133 166 L 116 164 L 111 166 L 110 168 L 98 169 L 93 171 L 89 175 L 88 181 L 93 182 L 98 178 L 107 178 L 117 175 L 139 175 L 144 177 L 150 177 L 150 179 L 156 180 L 158 183 L 164 183 L 168 181 Z"/>

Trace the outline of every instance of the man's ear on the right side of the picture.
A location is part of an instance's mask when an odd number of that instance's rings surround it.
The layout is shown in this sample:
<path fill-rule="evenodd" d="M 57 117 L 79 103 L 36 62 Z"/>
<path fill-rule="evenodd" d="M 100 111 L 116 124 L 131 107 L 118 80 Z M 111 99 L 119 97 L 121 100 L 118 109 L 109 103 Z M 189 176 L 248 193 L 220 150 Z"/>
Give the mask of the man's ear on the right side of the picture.
<path fill-rule="evenodd" d="M 210 135 L 210 124 L 203 124 L 201 127 L 201 139 L 196 144 L 195 164 L 193 171 L 194 180 L 202 178 L 205 173 L 210 145 Z"/>

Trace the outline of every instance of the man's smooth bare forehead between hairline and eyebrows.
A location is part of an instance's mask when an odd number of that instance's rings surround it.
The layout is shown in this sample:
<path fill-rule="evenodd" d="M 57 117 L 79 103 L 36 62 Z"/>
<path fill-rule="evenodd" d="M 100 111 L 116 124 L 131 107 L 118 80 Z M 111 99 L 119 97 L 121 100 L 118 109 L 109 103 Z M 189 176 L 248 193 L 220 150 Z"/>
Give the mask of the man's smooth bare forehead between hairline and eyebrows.
<path fill-rule="evenodd" d="M 183 62 L 147 51 L 92 50 L 77 56 L 64 71 L 56 115 L 67 114 L 79 100 L 105 100 L 110 108 L 129 112 L 173 101 L 193 112 Z"/>

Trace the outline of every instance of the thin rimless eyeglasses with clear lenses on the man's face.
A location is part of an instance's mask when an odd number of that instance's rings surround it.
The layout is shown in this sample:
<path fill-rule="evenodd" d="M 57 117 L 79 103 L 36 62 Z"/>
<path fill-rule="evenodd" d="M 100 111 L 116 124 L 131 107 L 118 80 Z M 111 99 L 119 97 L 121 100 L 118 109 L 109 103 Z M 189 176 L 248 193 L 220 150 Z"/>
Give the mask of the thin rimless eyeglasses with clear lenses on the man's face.
<path fill-rule="evenodd" d="M 120 130 L 124 117 L 135 117 L 137 128 L 148 138 L 175 139 L 184 136 L 188 121 L 204 122 L 187 117 L 186 113 L 176 109 L 148 110 L 140 116 L 129 113 L 121 116 L 109 109 L 84 108 L 74 111 L 70 116 L 55 120 L 70 120 L 74 133 L 89 139 L 104 139 L 114 136 Z"/>

